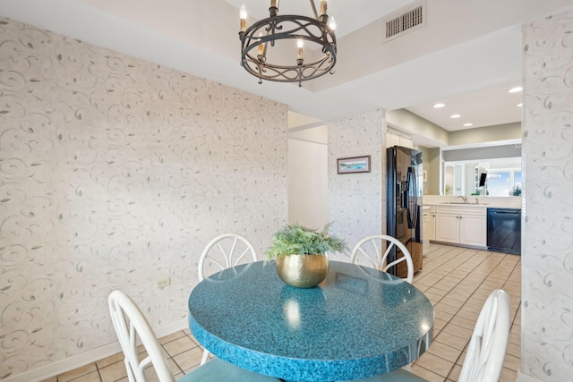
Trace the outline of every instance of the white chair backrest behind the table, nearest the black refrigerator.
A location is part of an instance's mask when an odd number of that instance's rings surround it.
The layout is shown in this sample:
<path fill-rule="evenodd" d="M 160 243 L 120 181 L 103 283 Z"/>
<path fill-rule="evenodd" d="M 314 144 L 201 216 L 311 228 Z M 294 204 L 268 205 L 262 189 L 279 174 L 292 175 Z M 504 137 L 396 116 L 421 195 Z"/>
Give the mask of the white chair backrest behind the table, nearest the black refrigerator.
<path fill-rule="evenodd" d="M 398 249 L 396 251 L 397 259 L 388 263 L 388 255 L 394 247 Z M 398 263 L 406 261 L 406 281 L 412 284 L 412 280 L 414 279 L 414 263 L 412 262 L 410 252 L 402 242 L 387 234 L 372 234 L 371 236 L 364 237 L 355 245 L 355 249 L 352 250 L 351 261 L 357 264 L 362 264 L 365 261 L 365 265 L 384 272 L 386 272 L 389 267 L 394 267 L 398 265 Z"/>

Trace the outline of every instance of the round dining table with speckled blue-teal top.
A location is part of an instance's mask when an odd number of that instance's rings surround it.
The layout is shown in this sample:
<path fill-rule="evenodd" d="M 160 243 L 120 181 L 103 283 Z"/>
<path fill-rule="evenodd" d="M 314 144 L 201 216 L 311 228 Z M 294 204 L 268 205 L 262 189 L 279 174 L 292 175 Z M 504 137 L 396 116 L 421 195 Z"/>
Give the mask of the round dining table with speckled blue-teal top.
<path fill-rule="evenodd" d="M 303 289 L 274 261 L 227 268 L 189 295 L 192 335 L 241 368 L 296 382 L 367 378 L 415 361 L 432 341 L 428 298 L 371 267 L 329 261 L 326 279 Z"/>

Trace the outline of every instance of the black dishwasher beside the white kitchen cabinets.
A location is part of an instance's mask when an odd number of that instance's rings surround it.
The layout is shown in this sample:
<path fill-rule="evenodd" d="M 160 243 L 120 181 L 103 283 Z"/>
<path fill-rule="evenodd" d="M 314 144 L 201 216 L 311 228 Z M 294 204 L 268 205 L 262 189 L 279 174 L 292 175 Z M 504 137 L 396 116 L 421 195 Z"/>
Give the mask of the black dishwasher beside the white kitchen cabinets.
<path fill-rule="evenodd" d="M 521 209 L 487 208 L 487 248 L 521 255 Z"/>

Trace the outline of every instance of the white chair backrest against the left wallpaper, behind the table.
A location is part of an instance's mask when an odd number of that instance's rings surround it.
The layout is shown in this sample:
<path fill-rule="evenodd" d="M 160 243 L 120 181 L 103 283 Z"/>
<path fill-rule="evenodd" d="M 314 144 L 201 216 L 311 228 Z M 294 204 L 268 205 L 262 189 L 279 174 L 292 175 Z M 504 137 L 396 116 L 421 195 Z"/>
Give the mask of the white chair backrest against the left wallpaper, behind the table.
<path fill-rule="evenodd" d="M 251 242 L 236 233 L 224 233 L 207 244 L 199 259 L 199 281 L 215 272 L 257 261 Z"/>

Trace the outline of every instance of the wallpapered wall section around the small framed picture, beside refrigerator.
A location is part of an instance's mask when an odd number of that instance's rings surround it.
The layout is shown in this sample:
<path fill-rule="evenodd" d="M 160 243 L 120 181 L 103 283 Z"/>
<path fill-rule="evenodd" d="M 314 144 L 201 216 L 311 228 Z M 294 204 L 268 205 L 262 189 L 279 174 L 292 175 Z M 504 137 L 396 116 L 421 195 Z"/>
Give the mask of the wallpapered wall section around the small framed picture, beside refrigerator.
<path fill-rule="evenodd" d="M 381 110 L 329 122 L 329 222 L 352 250 L 364 236 L 385 232 L 386 120 Z M 371 156 L 371 172 L 337 174 L 337 159 Z M 384 223 L 384 226 L 382 225 Z M 335 254 L 349 260 L 349 254 Z"/>

